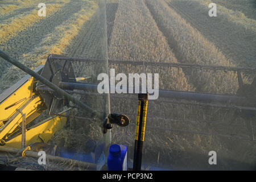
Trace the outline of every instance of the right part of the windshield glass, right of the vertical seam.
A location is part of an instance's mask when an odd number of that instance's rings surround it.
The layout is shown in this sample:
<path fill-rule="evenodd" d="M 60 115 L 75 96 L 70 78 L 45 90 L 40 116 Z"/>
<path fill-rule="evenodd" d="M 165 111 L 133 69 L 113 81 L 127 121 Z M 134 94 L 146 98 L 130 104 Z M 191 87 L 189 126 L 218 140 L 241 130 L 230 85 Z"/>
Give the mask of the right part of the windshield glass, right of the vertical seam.
<path fill-rule="evenodd" d="M 236 107 L 242 106 L 238 98 L 229 104 L 225 98 L 217 103 L 218 97 L 213 95 L 201 94 L 199 98 L 189 93 L 172 93 L 172 97 L 166 98 L 160 93 L 166 89 L 247 97 L 254 101 L 250 104 L 245 100 L 245 105 L 255 109 L 255 71 L 239 69 L 242 77 L 239 84 L 236 69 L 214 68 L 255 69 L 255 2 L 108 2 L 109 64 L 115 68 L 115 75 L 159 74 L 159 97 L 148 101 L 142 167 L 255 169 L 256 155 L 252 152 L 256 147 L 255 110 Z M 210 3 L 217 5 L 216 16 Z M 116 62 L 111 64 L 112 60 L 133 63 L 117 67 Z M 147 64 L 148 61 L 157 64 Z M 113 129 L 112 138 L 114 143 L 129 146 L 128 163 L 132 166 L 138 96 L 131 99 L 111 94 L 110 97 L 112 112 L 125 113 L 131 119 L 128 128 Z M 217 155 L 217 165 L 209 163 L 213 154 Z"/>

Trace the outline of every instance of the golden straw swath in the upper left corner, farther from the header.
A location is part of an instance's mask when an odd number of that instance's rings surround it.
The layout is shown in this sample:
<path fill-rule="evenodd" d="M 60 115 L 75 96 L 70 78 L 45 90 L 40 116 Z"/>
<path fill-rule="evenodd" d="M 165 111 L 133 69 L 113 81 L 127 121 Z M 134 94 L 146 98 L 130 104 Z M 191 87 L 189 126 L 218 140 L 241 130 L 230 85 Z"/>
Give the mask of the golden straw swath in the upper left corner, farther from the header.
<path fill-rule="evenodd" d="M 47 16 L 54 14 L 57 10 L 59 10 L 60 7 L 61 5 L 48 5 Z M 27 27 L 32 26 L 32 24 L 39 22 L 43 18 L 46 17 L 39 17 L 38 10 L 34 10 L 29 15 L 15 18 L 9 24 L 0 24 L 0 44 L 6 42 L 18 32 L 26 30 Z"/>

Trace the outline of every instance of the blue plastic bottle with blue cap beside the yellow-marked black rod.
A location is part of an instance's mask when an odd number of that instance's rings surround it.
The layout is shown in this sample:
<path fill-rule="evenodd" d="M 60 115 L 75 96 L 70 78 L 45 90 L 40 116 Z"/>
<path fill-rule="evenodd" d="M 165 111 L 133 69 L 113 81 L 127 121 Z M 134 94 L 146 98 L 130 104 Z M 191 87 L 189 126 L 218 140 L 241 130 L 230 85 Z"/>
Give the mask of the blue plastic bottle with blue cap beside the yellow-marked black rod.
<path fill-rule="evenodd" d="M 109 171 L 127 171 L 127 146 L 113 144 L 109 147 Z"/>

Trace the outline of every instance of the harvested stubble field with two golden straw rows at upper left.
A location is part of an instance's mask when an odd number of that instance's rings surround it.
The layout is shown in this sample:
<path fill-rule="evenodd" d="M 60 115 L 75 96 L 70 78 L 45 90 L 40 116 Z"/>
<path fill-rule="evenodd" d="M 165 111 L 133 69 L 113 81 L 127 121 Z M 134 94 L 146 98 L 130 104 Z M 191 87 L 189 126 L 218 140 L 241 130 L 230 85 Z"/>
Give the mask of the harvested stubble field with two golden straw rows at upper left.
<path fill-rule="evenodd" d="M 0 24 L 0 48 L 34 69 L 44 64 L 49 53 L 64 53 L 65 47 L 96 9 L 93 2 L 67 0 L 47 5 L 46 17 L 39 17 L 36 9 L 31 14 L 19 15 L 10 23 Z M 0 67 L 0 90 L 24 76 L 23 72 L 3 60 Z"/>

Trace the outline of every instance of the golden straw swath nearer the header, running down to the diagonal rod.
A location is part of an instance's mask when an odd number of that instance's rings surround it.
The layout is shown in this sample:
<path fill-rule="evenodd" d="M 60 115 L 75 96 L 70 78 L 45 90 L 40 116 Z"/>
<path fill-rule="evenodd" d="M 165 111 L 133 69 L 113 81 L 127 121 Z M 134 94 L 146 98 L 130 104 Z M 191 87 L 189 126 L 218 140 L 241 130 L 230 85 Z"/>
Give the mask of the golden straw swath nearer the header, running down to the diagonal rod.
<path fill-rule="evenodd" d="M 96 3 L 90 2 L 88 4 L 89 5 L 82 5 L 82 10 L 73 14 L 68 20 L 56 27 L 52 33 L 47 34 L 46 38 L 42 40 L 34 51 L 23 55 L 23 64 L 28 65 L 31 69 L 35 69 L 45 63 L 49 53 L 64 54 L 65 48 L 69 46 L 71 40 L 81 30 L 82 25 L 91 18 L 97 9 Z M 2 77 L 3 81 L 0 83 L 0 88 L 8 88 L 25 74 L 26 73 L 18 72 L 16 67 L 11 67 Z M 13 75 L 15 78 L 13 77 L 13 79 L 10 80 L 10 75 Z"/>

